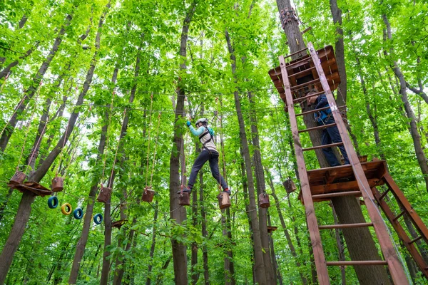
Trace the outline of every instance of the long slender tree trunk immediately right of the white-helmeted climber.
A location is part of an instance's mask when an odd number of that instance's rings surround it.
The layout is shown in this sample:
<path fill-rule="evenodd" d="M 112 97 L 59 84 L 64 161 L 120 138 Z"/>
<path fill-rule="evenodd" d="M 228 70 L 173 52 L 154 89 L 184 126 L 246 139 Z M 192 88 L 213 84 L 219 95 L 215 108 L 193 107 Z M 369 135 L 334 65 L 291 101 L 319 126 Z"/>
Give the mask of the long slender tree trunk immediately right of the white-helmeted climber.
<path fill-rule="evenodd" d="M 232 43 L 230 42 L 230 36 L 228 31 L 225 31 L 225 37 L 226 41 L 228 43 L 228 51 L 230 53 L 230 60 L 232 61 L 232 73 L 234 74 L 234 81 L 237 82 L 237 77 L 235 75 L 236 73 L 236 57 L 235 57 L 235 51 L 233 51 Z M 245 124 L 244 124 L 244 118 L 243 113 L 240 106 L 240 98 L 238 90 L 235 90 L 234 92 L 235 97 L 235 108 L 236 113 L 238 115 L 238 122 L 239 122 L 239 135 L 240 135 L 240 144 L 244 155 L 244 162 L 245 162 L 245 172 L 247 175 L 247 183 L 248 183 L 248 198 L 250 201 L 249 210 L 250 210 L 250 217 L 251 217 L 251 224 L 253 227 L 253 237 L 254 237 L 254 261 L 255 261 L 255 282 L 258 282 L 259 284 L 268 284 L 267 283 L 267 275 L 271 273 L 271 271 L 266 272 L 265 271 L 265 264 L 263 261 L 263 245 L 260 237 L 260 225 L 257 217 L 256 204 L 255 204 L 255 187 L 254 187 L 254 180 L 253 180 L 253 171 L 251 170 L 251 158 L 250 158 L 250 150 L 248 148 L 248 139 L 247 134 L 245 133 Z M 267 250 L 269 249 L 269 246 L 267 245 Z"/>

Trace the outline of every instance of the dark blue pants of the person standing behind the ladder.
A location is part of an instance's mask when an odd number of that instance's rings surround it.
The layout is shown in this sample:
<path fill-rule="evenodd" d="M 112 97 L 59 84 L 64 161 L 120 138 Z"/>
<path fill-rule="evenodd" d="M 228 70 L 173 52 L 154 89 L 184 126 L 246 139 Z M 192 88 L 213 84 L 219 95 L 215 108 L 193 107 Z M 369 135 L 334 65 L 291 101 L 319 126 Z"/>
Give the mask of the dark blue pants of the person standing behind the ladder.
<path fill-rule="evenodd" d="M 325 125 L 335 123 L 335 119 L 332 117 L 325 120 Z M 342 142 L 342 138 L 340 138 L 339 130 L 337 129 L 337 125 L 333 125 L 330 128 L 325 128 L 322 130 L 321 134 L 321 144 L 322 145 L 330 145 L 332 142 Z M 350 160 L 347 157 L 347 153 L 345 147 L 343 145 L 339 145 L 340 152 L 342 152 L 343 159 L 345 160 L 345 165 L 350 164 Z M 326 147 L 322 149 L 324 152 L 325 158 L 330 166 L 341 165 L 336 158 L 336 155 L 333 153 L 331 147 Z"/>

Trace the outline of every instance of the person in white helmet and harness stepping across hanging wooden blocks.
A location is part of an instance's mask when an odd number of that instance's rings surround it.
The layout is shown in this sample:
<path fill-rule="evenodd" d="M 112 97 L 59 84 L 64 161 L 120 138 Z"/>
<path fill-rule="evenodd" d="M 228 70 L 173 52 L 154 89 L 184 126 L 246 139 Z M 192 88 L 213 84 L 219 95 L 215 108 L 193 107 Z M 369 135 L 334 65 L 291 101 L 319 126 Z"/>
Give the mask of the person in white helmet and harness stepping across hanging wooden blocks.
<path fill-rule="evenodd" d="M 195 184 L 196 177 L 198 176 L 199 170 L 203 167 L 205 162 L 210 162 L 211 173 L 215 180 L 220 183 L 223 188 L 223 192 L 230 195 L 230 189 L 226 184 L 223 176 L 220 175 L 218 170 L 218 150 L 215 147 L 214 143 L 214 130 L 208 127 L 208 120 L 201 118 L 196 121 L 196 129 L 193 128 L 190 121 L 187 121 L 186 125 L 190 129 L 190 132 L 199 137 L 200 142 L 202 143 L 202 150 L 198 157 L 196 157 L 195 162 L 193 162 L 192 171 L 190 172 L 190 177 L 188 181 L 188 186 L 183 189 L 183 192 L 192 192 L 193 184 Z M 178 191 L 180 193 L 181 191 Z"/>

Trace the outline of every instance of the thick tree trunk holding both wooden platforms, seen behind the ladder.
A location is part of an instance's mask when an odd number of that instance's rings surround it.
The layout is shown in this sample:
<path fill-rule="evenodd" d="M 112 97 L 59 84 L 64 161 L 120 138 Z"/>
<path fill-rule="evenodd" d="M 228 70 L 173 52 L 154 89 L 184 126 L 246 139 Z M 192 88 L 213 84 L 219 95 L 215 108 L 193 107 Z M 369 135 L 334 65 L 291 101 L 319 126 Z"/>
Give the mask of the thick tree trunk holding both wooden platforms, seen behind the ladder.
<path fill-rule="evenodd" d="M 277 6 L 280 13 L 281 10 L 285 10 L 285 8 L 289 11 L 292 10 L 289 0 L 277 0 Z M 287 21 L 287 24 L 284 25 L 284 31 L 287 34 L 290 53 L 295 53 L 296 51 L 304 48 L 305 43 L 303 42 L 297 19 L 292 18 L 289 20 L 290 21 Z M 299 43 L 299 45 L 296 46 L 295 43 Z M 293 56 L 292 59 L 295 59 L 298 56 L 299 54 Z M 305 110 L 308 109 L 303 108 L 303 111 Z M 315 122 L 313 122 L 311 114 L 305 115 L 304 121 L 307 128 L 315 127 Z M 312 141 L 312 145 L 321 145 L 320 132 L 310 132 L 310 140 Z M 327 167 L 328 164 L 324 155 L 322 155 L 322 151 L 315 152 L 315 154 L 317 155 L 318 162 L 320 162 L 320 166 Z M 357 199 L 354 197 L 335 197 L 332 199 L 332 203 L 337 211 L 337 216 L 341 224 L 365 222 L 364 216 L 361 212 L 360 203 L 358 203 Z M 343 233 L 352 260 L 379 259 L 377 248 L 368 228 L 344 229 Z M 356 239 L 355 237 L 359 238 Z M 382 282 L 384 284 L 389 284 L 387 271 L 382 266 L 364 266 L 364 268 L 362 268 L 362 266 L 355 266 L 355 271 L 361 284 L 368 284 L 365 283 L 367 281 L 372 282 L 372 284 L 381 284 Z"/>

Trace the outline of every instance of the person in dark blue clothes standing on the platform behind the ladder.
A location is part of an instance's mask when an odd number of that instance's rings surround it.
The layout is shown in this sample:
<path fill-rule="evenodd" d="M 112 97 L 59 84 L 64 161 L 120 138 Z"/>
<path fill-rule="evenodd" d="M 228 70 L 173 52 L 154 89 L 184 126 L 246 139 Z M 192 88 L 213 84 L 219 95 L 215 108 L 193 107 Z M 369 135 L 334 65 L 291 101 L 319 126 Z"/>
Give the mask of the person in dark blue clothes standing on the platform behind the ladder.
<path fill-rule="evenodd" d="M 312 90 L 307 95 L 318 93 L 317 90 Z M 315 109 L 321 109 L 328 106 L 327 97 L 325 94 L 321 94 L 319 96 L 313 96 L 310 98 L 307 98 L 307 105 L 313 105 L 315 104 Z M 318 125 L 329 125 L 332 123 L 335 123 L 335 119 L 332 115 L 332 110 L 330 108 L 327 108 L 325 110 L 320 110 L 316 113 L 314 113 L 315 121 Z M 332 125 L 329 128 L 322 129 L 321 133 L 321 144 L 322 145 L 330 145 L 331 143 L 335 142 L 342 142 L 342 138 L 340 138 L 339 130 L 337 129 L 337 125 Z M 345 165 L 350 164 L 350 160 L 347 157 L 347 153 L 345 150 L 345 147 L 343 145 L 338 146 L 340 149 L 340 152 L 342 152 L 343 159 L 345 160 Z M 331 147 L 325 147 L 322 149 L 322 152 L 324 152 L 325 158 L 327 159 L 327 162 L 330 166 L 337 166 L 341 165 L 340 162 L 337 160 L 337 157 L 335 153 L 333 152 Z"/>

